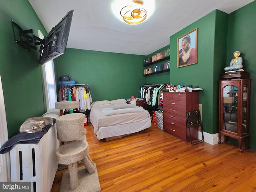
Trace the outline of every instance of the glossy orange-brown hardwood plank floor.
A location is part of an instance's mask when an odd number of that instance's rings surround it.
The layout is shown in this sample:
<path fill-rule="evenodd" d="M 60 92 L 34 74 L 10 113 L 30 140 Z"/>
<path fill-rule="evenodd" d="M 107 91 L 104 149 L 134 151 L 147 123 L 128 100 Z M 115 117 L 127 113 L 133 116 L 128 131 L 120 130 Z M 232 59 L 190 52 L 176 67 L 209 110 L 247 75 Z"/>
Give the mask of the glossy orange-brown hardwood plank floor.
<path fill-rule="evenodd" d="M 97 139 L 91 124 L 85 128 L 102 192 L 256 191 L 252 150 L 241 153 L 230 143 L 192 146 L 156 126 L 107 142 Z M 63 171 L 51 192 L 59 191 Z"/>

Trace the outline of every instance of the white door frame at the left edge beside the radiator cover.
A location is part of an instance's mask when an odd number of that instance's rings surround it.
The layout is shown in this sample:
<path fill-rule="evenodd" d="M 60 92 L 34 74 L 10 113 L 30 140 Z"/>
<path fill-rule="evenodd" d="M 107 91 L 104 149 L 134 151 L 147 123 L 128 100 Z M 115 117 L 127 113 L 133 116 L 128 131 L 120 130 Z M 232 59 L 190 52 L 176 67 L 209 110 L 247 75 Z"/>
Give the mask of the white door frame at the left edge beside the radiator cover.
<path fill-rule="evenodd" d="M 4 106 L 4 94 L 2 89 L 2 80 L 0 75 L 0 145 L 2 146 L 8 140 L 8 130 L 6 113 Z M 10 171 L 10 152 L 0 154 L 0 182 L 11 181 Z"/>

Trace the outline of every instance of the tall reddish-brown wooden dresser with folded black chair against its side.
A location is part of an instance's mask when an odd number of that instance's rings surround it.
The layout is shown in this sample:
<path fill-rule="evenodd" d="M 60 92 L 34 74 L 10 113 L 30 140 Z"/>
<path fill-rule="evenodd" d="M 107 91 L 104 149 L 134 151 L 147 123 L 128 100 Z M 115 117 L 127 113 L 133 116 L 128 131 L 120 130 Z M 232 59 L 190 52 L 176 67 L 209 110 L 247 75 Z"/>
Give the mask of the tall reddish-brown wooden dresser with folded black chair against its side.
<path fill-rule="evenodd" d="M 186 111 L 198 110 L 199 92 L 163 92 L 164 131 L 190 141 Z M 198 127 L 191 128 L 192 140 L 198 139 Z"/>

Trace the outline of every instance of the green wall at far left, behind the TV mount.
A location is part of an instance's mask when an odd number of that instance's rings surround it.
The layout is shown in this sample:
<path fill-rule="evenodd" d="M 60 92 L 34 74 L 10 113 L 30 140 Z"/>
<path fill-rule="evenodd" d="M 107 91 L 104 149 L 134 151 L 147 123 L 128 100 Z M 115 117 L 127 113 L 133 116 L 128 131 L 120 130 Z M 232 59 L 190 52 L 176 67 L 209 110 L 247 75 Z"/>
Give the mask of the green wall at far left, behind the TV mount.
<path fill-rule="evenodd" d="M 42 70 L 38 50 L 26 51 L 14 42 L 12 22 L 23 30 L 45 32 L 28 0 L 0 2 L 0 74 L 9 138 L 18 133 L 20 125 L 32 116 L 45 111 Z"/>

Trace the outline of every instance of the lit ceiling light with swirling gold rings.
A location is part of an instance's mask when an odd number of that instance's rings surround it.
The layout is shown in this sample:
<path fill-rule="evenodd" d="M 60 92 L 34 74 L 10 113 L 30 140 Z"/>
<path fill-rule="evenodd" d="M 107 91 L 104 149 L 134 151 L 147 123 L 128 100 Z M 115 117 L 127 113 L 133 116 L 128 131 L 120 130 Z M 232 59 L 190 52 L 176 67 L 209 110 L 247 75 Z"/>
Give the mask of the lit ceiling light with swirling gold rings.
<path fill-rule="evenodd" d="M 143 22 L 147 17 L 147 11 L 143 8 L 141 1 L 135 1 L 131 5 L 124 6 L 120 14 L 124 22 L 132 25 Z"/>

